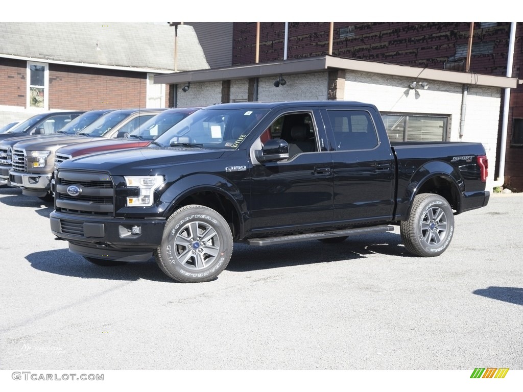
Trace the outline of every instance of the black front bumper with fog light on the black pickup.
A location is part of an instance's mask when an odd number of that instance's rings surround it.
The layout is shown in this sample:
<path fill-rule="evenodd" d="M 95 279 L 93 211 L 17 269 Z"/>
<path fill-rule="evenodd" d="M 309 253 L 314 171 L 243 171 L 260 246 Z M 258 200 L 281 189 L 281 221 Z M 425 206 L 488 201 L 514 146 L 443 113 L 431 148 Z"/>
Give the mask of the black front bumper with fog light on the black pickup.
<path fill-rule="evenodd" d="M 118 261 L 148 260 L 162 242 L 165 219 L 91 218 L 53 211 L 51 232 L 81 256 Z M 133 234 L 140 228 L 140 234 Z"/>

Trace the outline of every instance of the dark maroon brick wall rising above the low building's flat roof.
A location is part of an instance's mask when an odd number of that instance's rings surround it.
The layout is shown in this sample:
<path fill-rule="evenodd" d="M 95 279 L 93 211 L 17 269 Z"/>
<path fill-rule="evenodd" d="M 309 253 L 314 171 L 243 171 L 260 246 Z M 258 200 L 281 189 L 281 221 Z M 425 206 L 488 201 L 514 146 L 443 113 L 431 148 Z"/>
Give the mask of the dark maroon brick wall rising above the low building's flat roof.
<path fill-rule="evenodd" d="M 288 59 L 328 54 L 328 22 L 289 22 Z M 354 28 L 353 37 L 340 38 L 340 29 Z M 335 22 L 333 55 L 443 69 L 453 60 L 457 45 L 467 45 L 470 22 Z M 471 71 L 505 75 L 509 22 L 480 27 L 474 24 L 473 43 L 493 45 L 490 54 L 473 55 Z M 252 64 L 256 51 L 256 23 L 236 22 L 233 31 L 233 65 Z M 284 22 L 260 23 L 259 62 L 283 60 Z"/>

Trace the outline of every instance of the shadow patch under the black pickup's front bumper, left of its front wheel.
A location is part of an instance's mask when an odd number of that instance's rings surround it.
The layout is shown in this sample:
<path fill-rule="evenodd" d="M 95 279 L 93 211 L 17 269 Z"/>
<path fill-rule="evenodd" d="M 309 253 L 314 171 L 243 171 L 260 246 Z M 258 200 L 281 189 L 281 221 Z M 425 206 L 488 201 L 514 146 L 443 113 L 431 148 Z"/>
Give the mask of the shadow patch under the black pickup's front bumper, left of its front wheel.
<path fill-rule="evenodd" d="M 154 282 L 174 282 L 156 266 L 154 259 L 145 262 L 133 262 L 117 267 L 101 267 L 88 262 L 83 257 L 74 255 L 67 249 L 46 250 L 26 256 L 31 267 L 57 275 L 74 276 L 84 279 L 108 279 L 137 281 L 139 279 Z"/>

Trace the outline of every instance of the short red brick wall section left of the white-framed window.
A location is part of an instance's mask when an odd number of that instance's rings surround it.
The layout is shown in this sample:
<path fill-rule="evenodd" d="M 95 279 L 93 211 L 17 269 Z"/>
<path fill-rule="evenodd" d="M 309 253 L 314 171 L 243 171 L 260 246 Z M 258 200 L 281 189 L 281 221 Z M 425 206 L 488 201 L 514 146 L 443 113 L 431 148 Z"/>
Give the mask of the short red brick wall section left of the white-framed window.
<path fill-rule="evenodd" d="M 0 105 L 26 106 L 27 62 L 0 59 Z"/>

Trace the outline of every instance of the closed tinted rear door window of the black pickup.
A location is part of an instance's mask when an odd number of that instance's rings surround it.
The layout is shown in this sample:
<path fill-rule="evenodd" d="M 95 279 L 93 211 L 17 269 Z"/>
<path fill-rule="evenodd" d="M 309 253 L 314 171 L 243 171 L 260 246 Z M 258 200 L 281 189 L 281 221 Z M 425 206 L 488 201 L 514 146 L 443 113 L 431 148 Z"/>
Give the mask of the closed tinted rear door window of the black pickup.
<path fill-rule="evenodd" d="M 378 145 L 376 127 L 368 112 L 328 110 L 327 114 L 337 150 L 372 149 Z"/>

